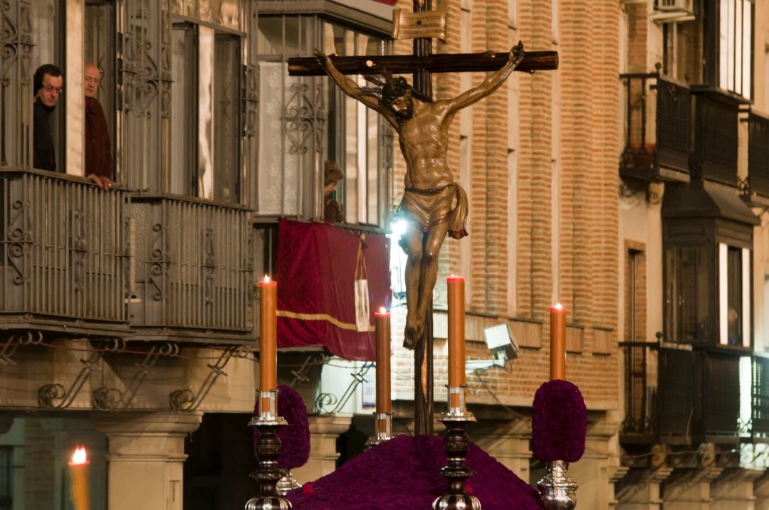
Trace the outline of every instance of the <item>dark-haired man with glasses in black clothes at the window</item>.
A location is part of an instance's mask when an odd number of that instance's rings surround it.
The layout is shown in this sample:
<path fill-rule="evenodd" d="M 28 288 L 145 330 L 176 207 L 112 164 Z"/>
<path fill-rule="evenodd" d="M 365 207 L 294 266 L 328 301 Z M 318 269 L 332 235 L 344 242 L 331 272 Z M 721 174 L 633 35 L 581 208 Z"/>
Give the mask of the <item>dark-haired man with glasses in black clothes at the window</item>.
<path fill-rule="evenodd" d="M 56 152 L 53 144 L 51 114 L 56 108 L 58 96 L 62 94 L 62 71 L 53 64 L 41 65 L 35 71 L 33 90 L 35 92 L 34 161 L 39 170 L 56 171 Z"/>

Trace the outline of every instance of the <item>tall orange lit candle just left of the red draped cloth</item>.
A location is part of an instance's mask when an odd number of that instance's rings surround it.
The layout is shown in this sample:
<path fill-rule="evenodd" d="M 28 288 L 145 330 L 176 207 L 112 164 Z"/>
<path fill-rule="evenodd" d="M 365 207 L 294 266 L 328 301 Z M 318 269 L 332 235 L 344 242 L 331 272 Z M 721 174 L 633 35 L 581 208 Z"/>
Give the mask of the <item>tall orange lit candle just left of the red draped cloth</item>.
<path fill-rule="evenodd" d="M 265 279 L 259 282 L 259 389 L 269 392 L 278 388 L 278 282 Z M 261 402 L 260 409 L 269 409 L 269 401 Z"/>

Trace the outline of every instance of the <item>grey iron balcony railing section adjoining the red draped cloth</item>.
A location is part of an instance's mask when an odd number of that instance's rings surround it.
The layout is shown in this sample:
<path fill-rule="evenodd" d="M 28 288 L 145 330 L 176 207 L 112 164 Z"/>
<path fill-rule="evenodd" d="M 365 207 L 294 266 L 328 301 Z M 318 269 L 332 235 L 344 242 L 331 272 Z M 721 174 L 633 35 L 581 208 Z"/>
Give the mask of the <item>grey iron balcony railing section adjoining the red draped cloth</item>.
<path fill-rule="evenodd" d="M 140 194 L 131 218 L 133 339 L 255 339 L 247 210 Z"/>

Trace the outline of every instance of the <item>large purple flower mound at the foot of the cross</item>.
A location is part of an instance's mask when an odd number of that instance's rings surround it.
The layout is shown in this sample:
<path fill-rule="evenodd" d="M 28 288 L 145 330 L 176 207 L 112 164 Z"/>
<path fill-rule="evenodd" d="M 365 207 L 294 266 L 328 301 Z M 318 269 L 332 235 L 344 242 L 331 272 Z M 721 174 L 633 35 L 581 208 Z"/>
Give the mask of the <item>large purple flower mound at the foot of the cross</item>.
<path fill-rule="evenodd" d="M 288 493 L 295 510 L 431 508 L 447 488 L 442 437 L 400 435 L 342 464 L 335 472 Z M 466 465 L 475 470 L 468 488 L 484 510 L 537 510 L 528 483 L 471 444 Z"/>

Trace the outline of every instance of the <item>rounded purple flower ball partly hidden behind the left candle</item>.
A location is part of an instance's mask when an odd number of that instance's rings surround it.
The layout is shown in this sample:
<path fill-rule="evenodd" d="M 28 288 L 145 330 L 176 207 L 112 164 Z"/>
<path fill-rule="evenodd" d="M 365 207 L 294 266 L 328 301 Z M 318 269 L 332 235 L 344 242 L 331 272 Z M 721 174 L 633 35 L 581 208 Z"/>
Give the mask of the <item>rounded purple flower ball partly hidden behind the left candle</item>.
<path fill-rule="evenodd" d="M 259 399 L 256 399 L 254 415 L 259 416 Z M 301 395 L 288 386 L 278 386 L 278 416 L 283 416 L 288 426 L 278 427 L 281 440 L 281 456 L 278 468 L 294 469 L 305 465 L 310 458 L 310 423 L 307 408 Z M 254 427 L 254 440 L 259 437 L 259 429 Z"/>

